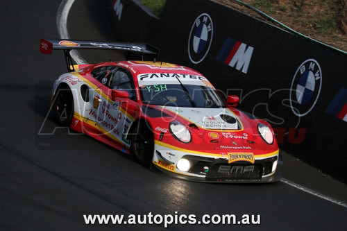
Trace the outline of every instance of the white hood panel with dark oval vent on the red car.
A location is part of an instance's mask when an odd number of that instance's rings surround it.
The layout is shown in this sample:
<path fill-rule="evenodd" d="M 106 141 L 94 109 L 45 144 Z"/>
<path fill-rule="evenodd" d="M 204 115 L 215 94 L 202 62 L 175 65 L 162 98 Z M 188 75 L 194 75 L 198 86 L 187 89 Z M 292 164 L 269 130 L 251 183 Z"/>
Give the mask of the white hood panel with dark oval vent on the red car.
<path fill-rule="evenodd" d="M 239 121 L 228 108 L 162 107 L 207 130 L 238 130 Z"/>

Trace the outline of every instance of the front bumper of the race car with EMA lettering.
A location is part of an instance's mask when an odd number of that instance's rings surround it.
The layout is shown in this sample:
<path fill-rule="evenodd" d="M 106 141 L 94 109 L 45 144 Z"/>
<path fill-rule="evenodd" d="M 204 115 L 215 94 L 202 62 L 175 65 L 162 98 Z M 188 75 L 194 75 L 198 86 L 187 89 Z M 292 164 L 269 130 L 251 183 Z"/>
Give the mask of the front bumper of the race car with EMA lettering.
<path fill-rule="evenodd" d="M 180 171 L 177 162 L 181 158 L 189 160 L 188 171 Z M 273 163 L 280 162 L 279 154 L 257 159 L 254 163 L 238 161 L 228 163 L 226 157 L 206 156 L 177 150 L 156 149 L 153 171 L 160 171 L 168 176 L 198 182 L 276 182 L 281 174 L 278 168 L 273 169 Z"/>

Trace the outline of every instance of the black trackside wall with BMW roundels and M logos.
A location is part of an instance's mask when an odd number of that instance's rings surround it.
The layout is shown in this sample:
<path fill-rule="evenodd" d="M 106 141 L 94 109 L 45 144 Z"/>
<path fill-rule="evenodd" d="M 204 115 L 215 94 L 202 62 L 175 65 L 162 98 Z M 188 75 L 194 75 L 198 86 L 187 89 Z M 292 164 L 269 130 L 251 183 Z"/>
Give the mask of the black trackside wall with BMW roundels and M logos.
<path fill-rule="evenodd" d="M 154 45 L 160 60 L 239 96 L 238 108 L 269 121 L 282 150 L 347 182 L 346 53 L 201 0 L 167 0 Z"/>

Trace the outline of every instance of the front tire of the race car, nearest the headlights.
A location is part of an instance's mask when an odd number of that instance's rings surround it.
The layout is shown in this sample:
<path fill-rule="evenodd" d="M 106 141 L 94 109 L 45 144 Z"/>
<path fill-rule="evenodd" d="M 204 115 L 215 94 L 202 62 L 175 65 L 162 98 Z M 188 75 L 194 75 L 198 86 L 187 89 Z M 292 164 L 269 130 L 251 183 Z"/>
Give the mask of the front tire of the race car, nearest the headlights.
<path fill-rule="evenodd" d="M 154 152 L 154 137 L 151 128 L 146 124 L 140 125 L 137 134 L 132 135 L 130 153 L 140 164 L 150 166 Z"/>

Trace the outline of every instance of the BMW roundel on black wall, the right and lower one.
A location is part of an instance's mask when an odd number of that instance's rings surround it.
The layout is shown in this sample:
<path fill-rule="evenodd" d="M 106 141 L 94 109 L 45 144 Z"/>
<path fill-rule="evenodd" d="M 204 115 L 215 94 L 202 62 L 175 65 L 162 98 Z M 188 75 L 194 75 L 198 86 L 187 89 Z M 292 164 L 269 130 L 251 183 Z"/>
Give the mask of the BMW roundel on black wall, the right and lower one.
<path fill-rule="evenodd" d="M 308 114 L 321 93 L 322 71 L 314 59 L 303 62 L 294 75 L 290 87 L 291 110 L 298 117 Z"/>

